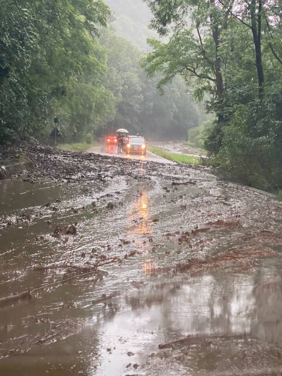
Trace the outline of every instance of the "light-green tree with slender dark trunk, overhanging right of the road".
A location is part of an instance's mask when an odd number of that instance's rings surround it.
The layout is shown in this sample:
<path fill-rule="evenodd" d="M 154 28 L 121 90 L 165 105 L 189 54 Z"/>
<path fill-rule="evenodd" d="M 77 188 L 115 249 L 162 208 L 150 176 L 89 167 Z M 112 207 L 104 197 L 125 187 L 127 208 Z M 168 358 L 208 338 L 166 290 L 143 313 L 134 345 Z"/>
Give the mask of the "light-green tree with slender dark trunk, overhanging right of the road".
<path fill-rule="evenodd" d="M 154 19 L 151 26 L 162 36 L 172 36 L 168 43 L 150 40 L 153 52 L 147 55 L 143 66 L 150 76 L 156 71 L 164 74 L 159 88 L 171 82 L 176 75 L 183 75 L 186 82 L 195 83 L 195 95 L 202 99 L 211 95 L 213 109 L 217 114 L 214 150 L 219 150 L 224 123 L 225 84 L 222 73 L 220 47 L 221 34 L 229 27 L 230 9 L 220 9 L 214 0 L 172 3 L 166 1 L 145 1 L 152 10 Z"/>

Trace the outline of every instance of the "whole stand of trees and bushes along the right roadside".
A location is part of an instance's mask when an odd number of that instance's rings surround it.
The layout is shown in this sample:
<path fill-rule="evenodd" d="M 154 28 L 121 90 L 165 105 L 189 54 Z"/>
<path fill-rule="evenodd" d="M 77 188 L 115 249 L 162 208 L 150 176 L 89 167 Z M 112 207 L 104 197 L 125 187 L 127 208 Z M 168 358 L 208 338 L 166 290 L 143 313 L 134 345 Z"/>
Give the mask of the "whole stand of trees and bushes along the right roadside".
<path fill-rule="evenodd" d="M 143 62 L 159 87 L 183 76 L 194 95 L 209 96 L 216 120 L 205 145 L 228 177 L 282 188 L 282 2 L 146 0 L 151 39 Z"/>

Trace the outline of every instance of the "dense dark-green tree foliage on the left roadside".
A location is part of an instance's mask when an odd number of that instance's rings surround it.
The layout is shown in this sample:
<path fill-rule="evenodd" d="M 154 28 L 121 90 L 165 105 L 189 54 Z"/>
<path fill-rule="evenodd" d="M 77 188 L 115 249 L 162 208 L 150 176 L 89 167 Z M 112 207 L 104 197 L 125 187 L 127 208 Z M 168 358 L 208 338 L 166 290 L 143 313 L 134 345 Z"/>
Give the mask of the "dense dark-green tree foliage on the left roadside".
<path fill-rule="evenodd" d="M 103 90 L 105 56 L 95 35 L 108 15 L 101 0 L 0 0 L 1 141 L 46 129 L 70 98 Z M 95 76 L 92 87 L 84 87 L 86 75 Z M 89 101 L 81 107 L 93 115 Z"/>

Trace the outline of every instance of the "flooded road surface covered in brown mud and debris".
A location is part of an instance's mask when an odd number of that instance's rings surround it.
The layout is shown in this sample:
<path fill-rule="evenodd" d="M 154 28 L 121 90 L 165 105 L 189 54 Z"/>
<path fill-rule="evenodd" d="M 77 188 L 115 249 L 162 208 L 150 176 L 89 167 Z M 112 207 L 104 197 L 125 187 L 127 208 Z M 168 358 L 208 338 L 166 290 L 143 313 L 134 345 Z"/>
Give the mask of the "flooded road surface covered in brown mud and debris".
<path fill-rule="evenodd" d="M 281 375 L 281 203 L 201 166 L 21 152 L 0 375 Z"/>

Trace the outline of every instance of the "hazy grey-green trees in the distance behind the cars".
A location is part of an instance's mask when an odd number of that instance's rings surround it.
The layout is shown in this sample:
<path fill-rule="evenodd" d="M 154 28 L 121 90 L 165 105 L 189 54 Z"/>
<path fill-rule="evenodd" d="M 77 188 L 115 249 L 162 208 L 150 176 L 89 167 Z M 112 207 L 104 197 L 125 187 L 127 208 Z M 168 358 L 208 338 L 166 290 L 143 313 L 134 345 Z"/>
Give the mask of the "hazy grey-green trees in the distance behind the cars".
<path fill-rule="evenodd" d="M 106 87 L 117 98 L 117 114 L 109 132 L 127 128 L 156 139 L 185 139 L 187 129 L 198 125 L 201 110 L 185 84 L 173 80 L 164 95 L 156 89 L 158 77 L 148 78 L 140 67 L 142 52 L 118 37 L 111 28 L 102 30 L 100 42 L 108 50 Z M 114 128 L 113 128 L 114 127 Z"/>

